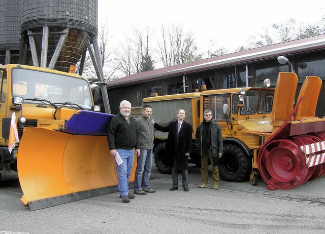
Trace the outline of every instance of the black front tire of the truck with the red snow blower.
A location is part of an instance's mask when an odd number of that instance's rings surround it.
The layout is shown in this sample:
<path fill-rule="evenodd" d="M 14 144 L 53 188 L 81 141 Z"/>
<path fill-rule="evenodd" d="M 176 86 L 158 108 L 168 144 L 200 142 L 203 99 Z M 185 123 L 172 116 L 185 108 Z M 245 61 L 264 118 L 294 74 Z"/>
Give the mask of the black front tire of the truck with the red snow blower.
<path fill-rule="evenodd" d="M 236 143 L 223 145 L 223 162 L 219 166 L 222 180 L 240 182 L 247 180 L 251 172 L 251 160 L 242 147 Z"/>

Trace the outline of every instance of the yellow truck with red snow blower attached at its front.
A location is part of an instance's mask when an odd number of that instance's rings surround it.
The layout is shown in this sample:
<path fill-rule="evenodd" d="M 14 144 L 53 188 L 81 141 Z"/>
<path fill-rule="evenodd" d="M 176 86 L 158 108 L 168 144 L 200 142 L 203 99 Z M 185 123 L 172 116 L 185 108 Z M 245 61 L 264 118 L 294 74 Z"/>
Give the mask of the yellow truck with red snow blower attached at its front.
<path fill-rule="evenodd" d="M 194 136 L 203 121 L 202 113 L 210 109 L 223 137 L 220 177 L 232 182 L 250 178 L 251 184 L 256 185 L 261 174 L 269 189 L 289 189 L 325 173 L 325 119 L 315 116 L 322 83 L 317 76 L 307 76 L 294 105 L 297 84 L 295 73 L 280 72 L 275 88 L 245 87 L 157 96 L 144 98 L 143 104 L 152 106 L 153 120 L 163 126 L 176 121 L 178 109 L 186 110 L 185 121 L 194 130 L 188 162 L 197 166 L 201 159 Z M 166 134 L 155 132 L 154 162 L 161 173 L 171 171 L 164 163 L 166 138 Z M 314 149 L 315 144 L 322 146 Z"/>

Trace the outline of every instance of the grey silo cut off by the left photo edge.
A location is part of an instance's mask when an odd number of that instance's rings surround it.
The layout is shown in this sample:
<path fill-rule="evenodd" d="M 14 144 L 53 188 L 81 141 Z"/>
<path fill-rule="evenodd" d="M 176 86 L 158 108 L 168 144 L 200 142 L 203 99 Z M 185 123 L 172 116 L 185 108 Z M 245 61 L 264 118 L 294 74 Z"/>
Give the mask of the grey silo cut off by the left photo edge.
<path fill-rule="evenodd" d="M 17 63 L 20 46 L 20 0 L 0 0 L 0 63 Z"/>

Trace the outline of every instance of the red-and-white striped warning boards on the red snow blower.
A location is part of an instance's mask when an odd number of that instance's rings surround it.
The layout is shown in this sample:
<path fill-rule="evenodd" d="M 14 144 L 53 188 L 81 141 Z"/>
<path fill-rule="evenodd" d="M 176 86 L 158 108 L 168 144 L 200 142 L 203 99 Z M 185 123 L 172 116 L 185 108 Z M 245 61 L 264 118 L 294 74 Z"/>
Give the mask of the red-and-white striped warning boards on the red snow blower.
<path fill-rule="evenodd" d="M 325 152 L 314 154 L 315 152 L 325 150 L 325 141 L 316 142 L 309 145 L 302 145 L 300 149 L 305 153 L 307 168 L 313 167 L 325 162 Z M 307 157 L 308 154 L 313 154 Z"/>

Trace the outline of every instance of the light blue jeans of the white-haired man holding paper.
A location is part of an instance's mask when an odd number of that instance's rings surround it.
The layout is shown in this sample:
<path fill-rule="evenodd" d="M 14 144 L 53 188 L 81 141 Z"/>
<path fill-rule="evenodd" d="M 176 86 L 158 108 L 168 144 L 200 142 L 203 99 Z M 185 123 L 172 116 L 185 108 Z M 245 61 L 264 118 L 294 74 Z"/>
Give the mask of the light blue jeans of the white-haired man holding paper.
<path fill-rule="evenodd" d="M 120 157 L 123 161 L 120 166 L 116 165 L 116 172 L 117 172 L 117 186 L 120 190 L 121 197 L 128 195 L 128 181 L 131 176 L 131 171 L 133 167 L 134 161 L 134 149 L 116 149 L 117 152 L 120 154 Z"/>

